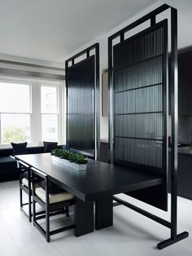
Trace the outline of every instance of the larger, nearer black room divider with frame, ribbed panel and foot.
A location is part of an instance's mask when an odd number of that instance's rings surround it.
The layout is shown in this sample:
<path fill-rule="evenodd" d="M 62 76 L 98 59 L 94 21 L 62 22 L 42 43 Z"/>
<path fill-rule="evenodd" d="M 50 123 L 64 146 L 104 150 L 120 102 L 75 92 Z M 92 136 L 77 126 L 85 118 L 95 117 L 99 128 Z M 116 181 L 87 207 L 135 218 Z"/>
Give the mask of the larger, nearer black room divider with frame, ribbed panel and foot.
<path fill-rule="evenodd" d="M 156 16 L 168 9 L 172 46 L 171 222 L 114 196 L 118 203 L 170 228 L 171 238 L 159 243 L 159 249 L 189 236 L 188 232 L 177 235 L 177 10 L 164 4 L 108 38 L 110 161 L 162 177 L 163 185 L 129 195 L 168 210 L 168 19 L 156 23 Z M 147 29 L 125 38 L 128 31 L 147 20 L 151 21 Z"/>

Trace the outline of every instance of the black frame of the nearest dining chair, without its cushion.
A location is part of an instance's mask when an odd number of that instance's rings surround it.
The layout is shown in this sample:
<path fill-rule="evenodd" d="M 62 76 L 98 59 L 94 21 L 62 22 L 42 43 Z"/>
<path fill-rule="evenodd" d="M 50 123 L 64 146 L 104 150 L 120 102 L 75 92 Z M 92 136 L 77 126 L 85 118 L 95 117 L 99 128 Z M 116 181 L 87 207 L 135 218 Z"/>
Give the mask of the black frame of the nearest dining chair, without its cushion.
<path fill-rule="evenodd" d="M 31 168 L 31 174 L 32 174 L 32 184 L 33 184 L 33 225 L 38 228 L 38 230 L 41 232 L 43 236 L 46 237 L 46 241 L 50 242 L 50 236 L 55 235 L 59 232 L 64 232 L 69 229 L 72 229 L 75 227 L 74 224 L 68 225 L 67 227 L 61 227 L 58 229 L 55 229 L 53 231 L 50 231 L 50 216 L 54 216 L 56 214 L 66 214 L 69 216 L 68 213 L 68 206 L 74 205 L 75 200 L 71 199 L 68 201 L 60 201 L 57 203 L 50 204 L 49 202 L 49 177 L 47 174 L 44 174 L 40 170 L 37 170 L 35 168 Z M 35 192 L 35 177 L 41 177 L 41 179 L 44 179 L 46 181 L 46 203 L 42 201 Z M 41 207 L 44 209 L 41 212 L 36 212 L 36 203 L 41 205 Z M 39 223 L 37 223 L 38 219 L 46 218 L 46 229 L 41 227 Z"/>

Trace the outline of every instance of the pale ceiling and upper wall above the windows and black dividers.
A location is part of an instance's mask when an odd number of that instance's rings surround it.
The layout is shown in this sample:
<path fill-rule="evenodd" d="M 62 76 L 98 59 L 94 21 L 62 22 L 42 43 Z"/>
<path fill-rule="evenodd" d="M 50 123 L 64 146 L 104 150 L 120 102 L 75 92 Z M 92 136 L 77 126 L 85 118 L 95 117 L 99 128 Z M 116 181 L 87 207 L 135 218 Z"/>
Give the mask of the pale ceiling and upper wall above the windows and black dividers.
<path fill-rule="evenodd" d="M 76 49 L 159 2 L 162 1 L 0 0 L 0 58 L 63 62 Z M 192 0 L 164 2 L 179 8 L 179 46 L 192 45 Z"/>

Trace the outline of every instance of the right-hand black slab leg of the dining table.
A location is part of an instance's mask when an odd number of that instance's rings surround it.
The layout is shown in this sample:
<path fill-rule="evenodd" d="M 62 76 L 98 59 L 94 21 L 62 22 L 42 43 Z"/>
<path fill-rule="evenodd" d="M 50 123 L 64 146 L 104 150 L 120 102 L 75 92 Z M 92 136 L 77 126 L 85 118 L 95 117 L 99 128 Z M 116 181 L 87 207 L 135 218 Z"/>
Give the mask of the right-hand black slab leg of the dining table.
<path fill-rule="evenodd" d="M 113 224 L 112 196 L 106 196 L 95 202 L 95 228 L 110 227 Z"/>

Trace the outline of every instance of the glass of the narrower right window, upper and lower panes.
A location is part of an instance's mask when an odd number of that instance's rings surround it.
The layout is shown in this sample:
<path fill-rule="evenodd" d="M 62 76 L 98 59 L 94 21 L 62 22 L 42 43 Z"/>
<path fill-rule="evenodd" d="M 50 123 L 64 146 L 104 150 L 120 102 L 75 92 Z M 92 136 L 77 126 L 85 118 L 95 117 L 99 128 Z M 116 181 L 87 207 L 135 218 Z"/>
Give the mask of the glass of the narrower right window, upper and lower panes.
<path fill-rule="evenodd" d="M 58 141 L 58 87 L 41 86 L 42 140 Z"/>

